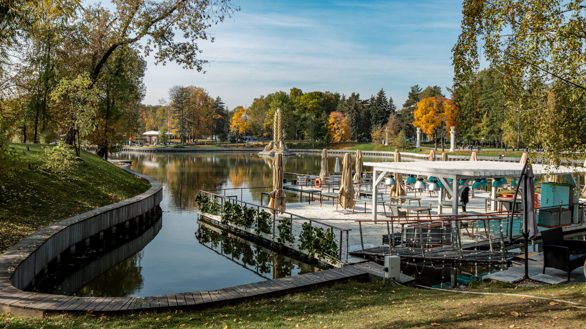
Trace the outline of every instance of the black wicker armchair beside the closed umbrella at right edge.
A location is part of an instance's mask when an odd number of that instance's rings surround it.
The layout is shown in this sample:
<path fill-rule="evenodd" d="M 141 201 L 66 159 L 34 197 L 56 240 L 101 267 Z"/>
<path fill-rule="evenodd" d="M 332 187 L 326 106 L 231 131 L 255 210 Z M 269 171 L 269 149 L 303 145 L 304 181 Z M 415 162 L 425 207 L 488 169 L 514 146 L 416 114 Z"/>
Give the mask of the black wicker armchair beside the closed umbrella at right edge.
<path fill-rule="evenodd" d="M 541 232 L 543 238 L 543 272 L 546 268 L 565 270 L 570 272 L 584 266 L 586 261 L 586 241 L 564 240 L 561 227 L 547 229 Z"/>

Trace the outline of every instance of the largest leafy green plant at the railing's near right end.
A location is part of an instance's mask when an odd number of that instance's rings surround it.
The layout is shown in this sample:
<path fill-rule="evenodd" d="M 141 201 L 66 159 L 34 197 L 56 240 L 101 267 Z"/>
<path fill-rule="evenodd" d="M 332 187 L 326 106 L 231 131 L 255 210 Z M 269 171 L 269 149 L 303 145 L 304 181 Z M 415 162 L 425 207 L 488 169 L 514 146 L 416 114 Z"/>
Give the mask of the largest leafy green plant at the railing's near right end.
<path fill-rule="evenodd" d="M 317 254 L 319 258 L 328 256 L 332 263 L 336 263 L 335 256 L 338 255 L 338 245 L 336 245 L 335 237 L 329 229 L 312 228 L 309 223 L 303 223 L 299 242 L 301 242 L 301 249 L 308 251 L 309 255 Z"/>

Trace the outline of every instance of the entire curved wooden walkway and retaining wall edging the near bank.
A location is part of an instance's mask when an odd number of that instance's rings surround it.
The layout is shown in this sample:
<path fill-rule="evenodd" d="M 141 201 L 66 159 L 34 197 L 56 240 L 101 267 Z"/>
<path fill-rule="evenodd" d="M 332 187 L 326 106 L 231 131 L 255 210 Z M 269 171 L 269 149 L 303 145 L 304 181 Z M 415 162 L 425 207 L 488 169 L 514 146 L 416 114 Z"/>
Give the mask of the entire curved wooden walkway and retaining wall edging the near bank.
<path fill-rule="evenodd" d="M 133 218 L 144 220 L 146 213 L 158 206 L 162 199 L 159 181 L 122 167 L 136 176 L 147 179 L 151 188 L 139 196 L 88 211 L 48 225 L 22 239 L 0 255 L 0 311 L 15 316 L 43 317 L 54 313 L 118 313 L 141 310 L 195 309 L 236 303 L 258 297 L 277 296 L 298 292 L 315 286 L 330 285 L 346 280 L 368 280 L 380 277 L 381 265 L 363 263 L 343 268 L 281 279 L 266 280 L 248 285 L 227 287 L 215 291 L 188 292 L 147 297 L 80 297 L 26 292 L 37 275 L 50 272 L 50 263 L 70 252 L 72 246 L 124 224 Z M 401 277 L 401 279 L 404 279 Z M 403 282 L 410 282 L 406 277 Z"/>

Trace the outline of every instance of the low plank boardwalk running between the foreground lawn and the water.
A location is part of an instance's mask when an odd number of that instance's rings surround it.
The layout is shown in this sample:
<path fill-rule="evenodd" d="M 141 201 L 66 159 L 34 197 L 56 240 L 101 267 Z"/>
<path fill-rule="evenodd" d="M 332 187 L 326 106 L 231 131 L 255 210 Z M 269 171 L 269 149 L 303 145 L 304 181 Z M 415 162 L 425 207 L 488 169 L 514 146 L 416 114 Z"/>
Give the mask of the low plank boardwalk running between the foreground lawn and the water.
<path fill-rule="evenodd" d="M 117 313 L 141 310 L 197 309 L 238 303 L 255 298 L 281 296 L 348 280 L 367 281 L 373 277 L 381 278 L 382 273 L 383 266 L 367 262 L 213 291 L 148 297 L 72 297 L 23 292 L 14 287 L 3 286 L 0 289 L 0 310 L 15 315 L 40 317 L 61 312 Z M 403 284 L 409 284 L 413 280 L 412 277 L 401 275 L 399 281 Z"/>

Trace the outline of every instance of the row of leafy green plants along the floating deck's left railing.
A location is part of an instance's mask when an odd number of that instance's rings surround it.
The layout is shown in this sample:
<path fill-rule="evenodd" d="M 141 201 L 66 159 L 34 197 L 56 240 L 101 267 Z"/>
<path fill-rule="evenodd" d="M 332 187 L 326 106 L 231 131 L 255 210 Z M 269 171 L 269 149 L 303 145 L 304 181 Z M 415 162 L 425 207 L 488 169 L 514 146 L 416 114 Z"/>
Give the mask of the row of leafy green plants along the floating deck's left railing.
<path fill-rule="evenodd" d="M 346 261 L 348 257 L 348 232 L 311 218 L 285 211 L 281 215 L 264 205 L 248 203 L 237 198 L 200 191 L 196 197 L 202 213 L 219 216 L 223 225 L 253 229 L 257 235 L 265 234 L 279 246 L 297 246 L 319 259 L 328 259 L 332 264 L 342 261 L 342 243 L 346 235 Z M 298 225 L 298 227 L 294 227 Z M 294 232 L 298 232 L 295 237 Z M 336 233 L 335 233 L 336 232 Z"/>

